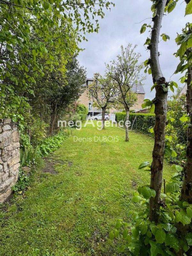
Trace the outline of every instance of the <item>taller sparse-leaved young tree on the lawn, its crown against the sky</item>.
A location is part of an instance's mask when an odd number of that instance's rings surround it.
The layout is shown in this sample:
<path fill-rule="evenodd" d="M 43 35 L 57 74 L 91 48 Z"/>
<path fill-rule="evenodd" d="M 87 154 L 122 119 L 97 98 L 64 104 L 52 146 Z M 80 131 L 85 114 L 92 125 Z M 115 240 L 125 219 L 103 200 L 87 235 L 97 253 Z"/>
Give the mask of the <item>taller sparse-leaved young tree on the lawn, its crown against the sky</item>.
<path fill-rule="evenodd" d="M 139 63 L 140 53 L 136 53 L 136 45 L 128 44 L 124 48 L 121 45 L 121 54 L 117 55 L 116 60 L 112 60 L 111 64 L 107 65 L 107 71 L 111 79 L 116 81 L 119 87 L 119 99 L 124 105 L 126 111 L 126 122 L 129 121 L 129 111 L 134 104 L 134 97 L 131 93 L 133 85 L 140 85 L 145 79 L 141 75 L 143 64 Z M 128 126 L 125 126 L 125 141 L 129 141 Z"/>

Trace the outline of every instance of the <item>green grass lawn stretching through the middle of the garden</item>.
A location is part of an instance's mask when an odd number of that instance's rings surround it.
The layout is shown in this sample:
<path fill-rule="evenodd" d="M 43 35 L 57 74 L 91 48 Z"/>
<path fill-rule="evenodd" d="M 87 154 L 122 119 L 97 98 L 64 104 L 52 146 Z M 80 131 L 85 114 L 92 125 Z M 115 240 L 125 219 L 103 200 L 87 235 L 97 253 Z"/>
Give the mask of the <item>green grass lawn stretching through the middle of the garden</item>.
<path fill-rule="evenodd" d="M 74 136 L 93 141 L 74 142 Z M 94 136 L 119 141 L 94 142 Z M 124 142 L 116 127 L 73 130 L 51 156 L 58 174 L 39 167 L 25 195 L 0 211 L 0 256 L 117 255 L 108 232 L 117 218 L 131 221 L 128 212 L 138 208 L 132 192 L 150 180 L 138 166 L 151 161 L 152 148 L 153 139 L 140 133 L 130 132 Z M 165 163 L 164 178 L 170 175 Z"/>

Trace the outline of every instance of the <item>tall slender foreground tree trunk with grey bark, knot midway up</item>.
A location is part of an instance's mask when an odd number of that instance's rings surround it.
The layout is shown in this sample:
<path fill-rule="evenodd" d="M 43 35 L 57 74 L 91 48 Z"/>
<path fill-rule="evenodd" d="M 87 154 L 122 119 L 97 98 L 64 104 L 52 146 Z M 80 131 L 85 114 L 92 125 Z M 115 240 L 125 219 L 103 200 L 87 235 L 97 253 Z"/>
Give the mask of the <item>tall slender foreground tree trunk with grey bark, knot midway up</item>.
<path fill-rule="evenodd" d="M 167 94 L 165 78 L 163 77 L 160 64 L 158 42 L 164 9 L 167 0 L 159 0 L 156 5 L 156 16 L 153 18 L 154 26 L 151 34 L 151 42 L 148 46 L 150 50 L 150 66 L 153 76 L 153 83 L 156 84 L 155 103 L 155 144 L 153 148 L 153 161 L 151 165 L 150 187 L 156 191 L 156 196 L 149 201 L 149 220 L 158 223 L 160 210 L 160 194 L 163 178 L 164 147 L 165 147 L 165 126 L 167 115 Z"/>

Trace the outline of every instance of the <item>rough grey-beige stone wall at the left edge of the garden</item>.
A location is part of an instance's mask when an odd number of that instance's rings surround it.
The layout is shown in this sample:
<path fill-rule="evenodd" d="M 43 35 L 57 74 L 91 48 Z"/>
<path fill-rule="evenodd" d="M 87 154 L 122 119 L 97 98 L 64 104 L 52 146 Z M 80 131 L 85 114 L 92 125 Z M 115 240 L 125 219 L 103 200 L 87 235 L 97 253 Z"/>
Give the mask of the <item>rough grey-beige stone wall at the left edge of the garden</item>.
<path fill-rule="evenodd" d="M 0 119 L 0 203 L 11 194 L 20 167 L 20 143 L 17 124 L 11 119 Z"/>

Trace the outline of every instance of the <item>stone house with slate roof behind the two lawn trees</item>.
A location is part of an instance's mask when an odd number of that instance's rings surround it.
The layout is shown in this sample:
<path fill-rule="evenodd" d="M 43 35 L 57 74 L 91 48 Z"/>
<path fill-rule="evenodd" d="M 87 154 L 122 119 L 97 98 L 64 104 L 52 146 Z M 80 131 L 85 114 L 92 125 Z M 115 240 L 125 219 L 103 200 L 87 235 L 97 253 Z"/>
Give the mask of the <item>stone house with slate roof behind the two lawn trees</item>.
<path fill-rule="evenodd" d="M 84 84 L 85 90 L 79 97 L 78 102 L 81 104 L 84 104 L 88 108 L 90 116 L 95 116 L 99 113 L 102 113 L 102 109 L 93 107 L 94 99 L 89 96 L 89 91 L 88 91 L 88 85 L 91 84 L 92 82 L 93 82 L 92 78 L 87 78 L 86 83 Z M 141 105 L 144 103 L 144 99 L 145 99 L 144 88 L 142 85 L 137 85 L 137 86 L 135 85 L 132 87 L 132 91 L 137 94 L 137 101 L 134 104 L 134 106 L 131 108 L 131 110 L 140 110 L 142 109 Z M 115 108 L 111 108 L 109 112 L 114 113 L 114 112 L 119 112 L 119 110 Z"/>

